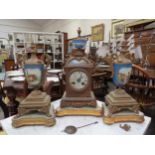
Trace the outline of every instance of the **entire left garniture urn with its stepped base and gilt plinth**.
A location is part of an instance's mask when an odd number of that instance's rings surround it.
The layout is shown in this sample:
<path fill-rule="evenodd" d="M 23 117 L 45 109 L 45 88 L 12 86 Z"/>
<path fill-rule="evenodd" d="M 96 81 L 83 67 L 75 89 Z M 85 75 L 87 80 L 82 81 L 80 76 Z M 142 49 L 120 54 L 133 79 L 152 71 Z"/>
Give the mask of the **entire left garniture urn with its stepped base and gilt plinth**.
<path fill-rule="evenodd" d="M 35 56 L 35 55 L 34 55 Z M 12 119 L 15 128 L 28 125 L 53 126 L 56 123 L 51 97 L 40 89 L 45 79 L 44 65 L 35 57 L 24 66 L 25 79 L 31 93 L 19 104 L 18 114 Z"/>

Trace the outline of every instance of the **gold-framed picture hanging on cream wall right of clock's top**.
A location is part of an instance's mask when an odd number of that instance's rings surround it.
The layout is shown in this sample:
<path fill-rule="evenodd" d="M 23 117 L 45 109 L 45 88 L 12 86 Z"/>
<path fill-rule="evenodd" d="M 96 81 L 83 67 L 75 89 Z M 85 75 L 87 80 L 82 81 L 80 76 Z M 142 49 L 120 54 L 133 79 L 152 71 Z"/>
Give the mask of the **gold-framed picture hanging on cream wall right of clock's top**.
<path fill-rule="evenodd" d="M 104 40 L 104 24 L 92 26 L 92 41 L 103 41 Z"/>

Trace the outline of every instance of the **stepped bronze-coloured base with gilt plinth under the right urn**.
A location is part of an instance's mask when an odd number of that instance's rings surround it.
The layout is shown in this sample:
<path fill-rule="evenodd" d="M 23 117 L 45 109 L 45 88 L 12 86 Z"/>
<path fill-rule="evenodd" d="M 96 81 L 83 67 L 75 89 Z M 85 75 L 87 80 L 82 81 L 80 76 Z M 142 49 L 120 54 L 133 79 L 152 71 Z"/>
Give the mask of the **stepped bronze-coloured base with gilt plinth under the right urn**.
<path fill-rule="evenodd" d="M 116 89 L 105 97 L 106 107 L 103 122 L 113 124 L 117 122 L 144 121 L 144 115 L 139 111 L 139 104 L 123 89 Z"/>

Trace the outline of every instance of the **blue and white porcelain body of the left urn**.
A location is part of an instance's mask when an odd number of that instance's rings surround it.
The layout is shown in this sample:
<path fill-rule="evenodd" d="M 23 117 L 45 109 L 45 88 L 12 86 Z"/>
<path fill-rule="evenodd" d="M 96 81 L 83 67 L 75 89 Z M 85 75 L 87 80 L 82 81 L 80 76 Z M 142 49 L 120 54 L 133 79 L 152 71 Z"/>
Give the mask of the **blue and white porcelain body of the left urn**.
<path fill-rule="evenodd" d="M 25 64 L 24 73 L 29 88 L 38 88 L 44 78 L 43 64 Z"/>

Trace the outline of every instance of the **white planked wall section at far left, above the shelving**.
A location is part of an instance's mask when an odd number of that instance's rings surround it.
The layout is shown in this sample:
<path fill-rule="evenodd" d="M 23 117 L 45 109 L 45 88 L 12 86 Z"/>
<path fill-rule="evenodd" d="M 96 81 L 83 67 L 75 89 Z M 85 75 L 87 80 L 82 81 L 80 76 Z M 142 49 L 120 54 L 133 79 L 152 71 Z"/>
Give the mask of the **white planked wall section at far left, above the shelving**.
<path fill-rule="evenodd" d="M 28 19 L 0 19 L 0 38 L 13 31 L 41 31 L 40 26 Z"/>

